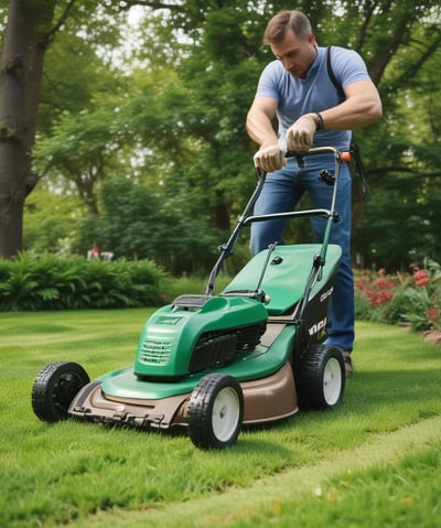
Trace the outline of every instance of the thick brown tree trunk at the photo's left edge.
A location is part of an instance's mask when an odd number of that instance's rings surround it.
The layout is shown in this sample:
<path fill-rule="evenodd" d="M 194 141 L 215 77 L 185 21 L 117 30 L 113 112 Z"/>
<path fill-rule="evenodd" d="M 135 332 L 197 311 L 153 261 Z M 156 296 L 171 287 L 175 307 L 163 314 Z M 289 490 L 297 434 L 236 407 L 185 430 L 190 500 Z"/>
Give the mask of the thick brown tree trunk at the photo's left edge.
<path fill-rule="evenodd" d="M 22 249 L 23 206 L 37 177 L 32 148 L 55 0 L 10 0 L 0 58 L 0 257 Z"/>

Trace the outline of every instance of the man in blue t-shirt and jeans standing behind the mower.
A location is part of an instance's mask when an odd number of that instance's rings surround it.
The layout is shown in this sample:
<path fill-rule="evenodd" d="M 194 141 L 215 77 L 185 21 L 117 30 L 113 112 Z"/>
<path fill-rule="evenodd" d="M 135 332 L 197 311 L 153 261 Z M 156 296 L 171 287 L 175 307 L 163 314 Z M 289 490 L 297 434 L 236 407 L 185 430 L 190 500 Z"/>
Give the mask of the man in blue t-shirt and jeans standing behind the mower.
<path fill-rule="evenodd" d="M 344 101 L 341 100 L 327 72 L 326 49 L 318 46 L 309 19 L 300 11 L 282 11 L 273 17 L 263 42 L 271 47 L 277 61 L 263 69 L 247 116 L 248 133 L 259 144 L 255 165 L 268 173 L 255 214 L 292 211 L 306 191 L 314 207 L 329 208 L 332 187 L 318 175 L 323 168 L 333 173 L 333 157 L 306 157 L 304 165 L 299 166 L 294 158 L 288 161 L 282 158 L 279 139 L 293 152 L 305 152 L 313 146 L 347 151 L 351 131 L 381 117 L 378 91 L 357 53 L 332 47 L 332 71 L 345 95 Z M 278 132 L 272 127 L 275 117 Z M 341 220 L 334 224 L 331 239 L 342 247 L 343 257 L 327 313 L 326 343 L 342 349 L 346 377 L 353 374 L 354 343 L 351 191 L 351 174 L 344 163 L 336 201 Z M 255 223 L 252 254 L 271 243 L 281 243 L 284 227 L 284 220 Z M 313 219 L 312 227 L 314 236 L 321 239 L 323 220 Z"/>

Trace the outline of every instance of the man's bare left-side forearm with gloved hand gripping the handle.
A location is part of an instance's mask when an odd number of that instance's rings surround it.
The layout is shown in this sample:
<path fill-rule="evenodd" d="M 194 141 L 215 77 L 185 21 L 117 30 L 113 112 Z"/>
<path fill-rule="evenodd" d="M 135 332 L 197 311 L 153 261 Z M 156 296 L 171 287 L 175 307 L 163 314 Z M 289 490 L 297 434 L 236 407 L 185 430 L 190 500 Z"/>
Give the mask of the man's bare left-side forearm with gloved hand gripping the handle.
<path fill-rule="evenodd" d="M 254 157 L 255 165 L 266 172 L 278 171 L 286 163 L 281 158 L 278 137 L 272 126 L 276 110 L 276 99 L 257 96 L 247 115 L 248 134 L 259 146 Z"/>

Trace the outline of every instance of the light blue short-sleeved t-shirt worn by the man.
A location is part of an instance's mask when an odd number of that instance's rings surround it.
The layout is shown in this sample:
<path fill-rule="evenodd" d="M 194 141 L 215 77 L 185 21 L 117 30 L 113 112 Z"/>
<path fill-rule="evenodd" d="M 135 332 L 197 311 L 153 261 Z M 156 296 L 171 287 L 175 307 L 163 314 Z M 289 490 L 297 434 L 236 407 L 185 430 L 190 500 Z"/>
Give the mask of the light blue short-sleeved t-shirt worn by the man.
<path fill-rule="evenodd" d="M 332 46 L 331 65 L 343 88 L 356 80 L 370 79 L 363 58 L 352 50 Z M 289 127 L 304 114 L 323 111 L 338 105 L 337 89 L 327 74 L 326 47 L 318 47 L 318 56 L 304 79 L 293 77 L 280 61 L 269 63 L 260 75 L 256 95 L 272 97 L 278 101 L 278 133 L 282 141 Z M 351 137 L 349 130 L 318 130 L 314 146 L 347 150 Z"/>

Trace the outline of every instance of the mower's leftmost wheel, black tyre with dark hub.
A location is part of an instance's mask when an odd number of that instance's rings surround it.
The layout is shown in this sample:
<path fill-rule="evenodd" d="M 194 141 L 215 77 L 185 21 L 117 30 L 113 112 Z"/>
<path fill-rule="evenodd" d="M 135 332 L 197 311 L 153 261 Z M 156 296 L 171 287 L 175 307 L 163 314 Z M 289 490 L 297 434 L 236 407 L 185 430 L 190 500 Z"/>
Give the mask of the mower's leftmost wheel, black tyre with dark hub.
<path fill-rule="evenodd" d="M 89 381 L 88 374 L 77 363 L 50 363 L 40 370 L 32 387 L 34 413 L 45 422 L 66 419 L 73 399 Z"/>

